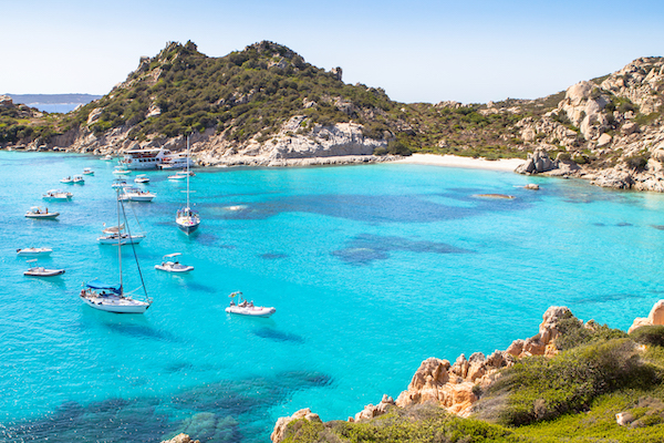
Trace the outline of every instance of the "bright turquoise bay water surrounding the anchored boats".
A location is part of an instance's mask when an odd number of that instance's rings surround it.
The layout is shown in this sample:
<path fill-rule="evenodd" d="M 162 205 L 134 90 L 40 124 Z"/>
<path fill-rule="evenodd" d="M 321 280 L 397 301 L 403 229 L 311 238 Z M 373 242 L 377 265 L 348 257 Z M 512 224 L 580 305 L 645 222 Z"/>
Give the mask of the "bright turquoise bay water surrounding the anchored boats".
<path fill-rule="evenodd" d="M 59 179 L 95 169 L 85 185 Z M 147 172 L 153 203 L 133 203 L 153 307 L 96 311 L 83 281 L 117 280 L 113 165 L 96 157 L 0 152 L 0 440 L 267 442 L 279 416 L 311 408 L 346 419 L 398 395 L 422 360 L 506 349 L 543 311 L 626 329 L 662 298 L 664 195 L 583 182 L 422 165 L 198 171 L 203 224 L 175 225 L 185 183 Z M 133 174 L 135 175 L 135 174 Z M 541 190 L 519 186 L 538 183 Z M 58 220 L 23 217 L 51 188 Z M 501 193 L 517 198 L 474 195 Z M 129 219 L 129 223 L 133 223 Z M 132 225 L 138 229 L 138 225 Z M 48 246 L 23 277 L 15 249 Z M 183 253 L 185 276 L 154 269 Z M 123 247 L 125 288 L 139 285 Z M 224 311 L 231 291 L 270 319 Z"/>

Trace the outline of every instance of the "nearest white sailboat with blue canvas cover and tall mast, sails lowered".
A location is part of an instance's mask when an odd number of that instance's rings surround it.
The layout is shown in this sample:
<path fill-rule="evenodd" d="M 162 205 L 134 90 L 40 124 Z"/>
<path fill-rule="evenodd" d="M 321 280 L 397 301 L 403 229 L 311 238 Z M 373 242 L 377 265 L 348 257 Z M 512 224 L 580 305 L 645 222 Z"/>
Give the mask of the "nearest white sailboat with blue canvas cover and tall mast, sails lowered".
<path fill-rule="evenodd" d="M 116 188 L 116 190 L 120 188 Z M 127 235 L 131 237 L 131 233 L 128 230 L 128 225 L 126 224 L 126 215 L 124 213 L 124 206 L 122 200 L 120 199 L 120 190 L 117 190 L 117 228 L 121 230 L 121 216 L 120 213 L 122 210 L 124 217 L 124 226 L 127 227 Z M 94 279 L 85 284 L 85 287 L 81 289 L 81 293 L 79 295 L 83 301 L 94 308 L 102 311 L 115 312 L 115 313 L 143 313 L 151 307 L 153 300 L 147 296 L 147 290 L 145 289 L 145 282 L 143 281 L 143 275 L 141 274 L 141 267 L 138 266 L 138 260 L 136 259 L 136 268 L 138 269 L 138 275 L 141 276 L 141 287 L 135 289 L 132 292 L 125 292 L 123 280 L 122 280 L 122 239 L 121 236 L 117 236 L 117 264 L 120 269 L 120 284 L 118 285 L 107 285 L 98 279 Z M 134 258 L 136 258 L 136 251 L 134 250 Z M 143 292 L 145 295 L 144 300 L 138 300 L 132 297 L 132 293 L 136 290 L 143 288 Z"/>

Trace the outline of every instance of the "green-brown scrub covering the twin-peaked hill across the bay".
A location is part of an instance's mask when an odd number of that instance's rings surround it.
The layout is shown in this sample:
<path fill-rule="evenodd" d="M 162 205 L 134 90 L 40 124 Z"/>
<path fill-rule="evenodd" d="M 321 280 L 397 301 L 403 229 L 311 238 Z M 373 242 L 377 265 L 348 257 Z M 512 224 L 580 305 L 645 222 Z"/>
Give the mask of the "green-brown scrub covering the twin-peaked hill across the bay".
<path fill-rule="evenodd" d="M 350 85 L 341 78 L 341 69 L 317 68 L 271 42 L 221 58 L 200 53 L 193 42 L 173 42 L 156 56 L 142 59 L 107 95 L 64 116 L 51 114 L 46 122 L 3 111 L 0 142 L 48 144 L 72 130 L 100 136 L 116 128 L 139 142 L 206 130 L 231 142 L 266 142 L 289 119 L 303 115 L 302 133 L 315 124 L 353 122 L 366 137 L 392 141 L 391 153 L 525 156 L 515 124 L 537 112 L 523 105 L 529 101 L 518 101 L 520 107 L 512 113 L 486 113 L 487 106 L 479 104 L 404 104 L 390 100 L 381 87 Z"/>

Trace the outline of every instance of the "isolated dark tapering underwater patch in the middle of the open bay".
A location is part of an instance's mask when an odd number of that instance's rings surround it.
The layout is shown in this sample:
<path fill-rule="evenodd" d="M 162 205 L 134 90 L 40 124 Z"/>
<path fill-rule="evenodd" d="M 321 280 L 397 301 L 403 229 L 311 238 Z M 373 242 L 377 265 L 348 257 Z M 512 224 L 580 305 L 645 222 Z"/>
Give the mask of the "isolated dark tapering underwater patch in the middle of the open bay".
<path fill-rule="evenodd" d="M 445 243 L 411 240 L 404 237 L 377 236 L 361 234 L 353 238 L 345 248 L 331 254 L 352 265 L 367 265 L 373 260 L 386 260 L 390 253 L 405 250 L 425 254 L 468 254 L 470 250 L 457 248 Z"/>

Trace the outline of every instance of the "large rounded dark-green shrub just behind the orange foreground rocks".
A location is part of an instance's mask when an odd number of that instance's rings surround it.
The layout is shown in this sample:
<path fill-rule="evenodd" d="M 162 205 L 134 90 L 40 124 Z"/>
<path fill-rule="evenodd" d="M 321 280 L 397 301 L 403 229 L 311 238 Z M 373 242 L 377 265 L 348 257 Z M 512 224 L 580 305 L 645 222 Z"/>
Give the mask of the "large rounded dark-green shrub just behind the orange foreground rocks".
<path fill-rule="evenodd" d="M 661 372 L 641 360 L 630 339 L 583 344 L 552 359 L 521 359 L 502 371 L 477 403 L 480 418 L 506 425 L 552 420 L 589 408 L 616 389 L 649 388 Z"/>

